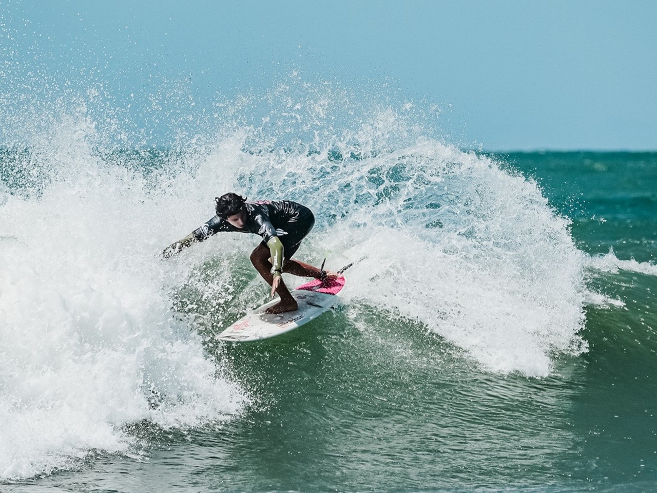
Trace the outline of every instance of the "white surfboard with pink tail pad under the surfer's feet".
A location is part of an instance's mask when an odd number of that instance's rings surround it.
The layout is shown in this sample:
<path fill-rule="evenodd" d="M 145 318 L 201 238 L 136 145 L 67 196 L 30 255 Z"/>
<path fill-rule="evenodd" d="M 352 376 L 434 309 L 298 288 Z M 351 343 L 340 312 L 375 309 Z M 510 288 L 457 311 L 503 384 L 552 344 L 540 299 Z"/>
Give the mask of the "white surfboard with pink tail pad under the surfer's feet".
<path fill-rule="evenodd" d="M 319 281 L 314 279 L 309 283 L 296 287 L 290 294 L 299 305 L 294 312 L 284 314 L 265 314 L 265 310 L 279 302 L 271 300 L 259 306 L 253 312 L 246 314 L 230 327 L 217 335 L 219 340 L 246 342 L 249 340 L 269 339 L 301 327 L 319 317 L 338 304 L 338 296 L 344 287 L 344 277 L 335 277 Z"/>

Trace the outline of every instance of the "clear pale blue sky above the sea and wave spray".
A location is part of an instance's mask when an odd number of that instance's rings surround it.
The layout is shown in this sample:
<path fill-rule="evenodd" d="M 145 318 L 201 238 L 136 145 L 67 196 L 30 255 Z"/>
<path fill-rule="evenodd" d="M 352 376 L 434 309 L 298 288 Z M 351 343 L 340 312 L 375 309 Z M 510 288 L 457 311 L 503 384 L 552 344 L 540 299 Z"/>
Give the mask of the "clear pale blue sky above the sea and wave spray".
<path fill-rule="evenodd" d="M 210 101 L 294 69 L 386 82 L 488 150 L 657 149 L 654 0 L 0 0 L 0 16 L 5 94 L 18 65 L 125 103 L 154 80 Z"/>

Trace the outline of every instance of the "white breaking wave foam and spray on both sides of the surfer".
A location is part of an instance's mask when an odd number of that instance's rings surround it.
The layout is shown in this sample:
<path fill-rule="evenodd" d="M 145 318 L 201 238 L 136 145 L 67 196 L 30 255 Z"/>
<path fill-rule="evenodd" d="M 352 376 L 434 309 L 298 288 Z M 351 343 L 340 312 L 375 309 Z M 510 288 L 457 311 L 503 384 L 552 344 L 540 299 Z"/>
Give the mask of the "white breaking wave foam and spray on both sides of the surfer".
<path fill-rule="evenodd" d="M 252 402 L 209 341 L 265 296 L 256 237 L 159 256 L 226 191 L 314 210 L 298 256 L 355 262 L 346 324 L 394 320 L 501 375 L 587 350 L 586 259 L 535 181 L 442 141 L 436 108 L 292 79 L 164 147 L 93 91 L 4 116 L 0 478 L 139 455 L 139 423 L 213 426 Z"/>

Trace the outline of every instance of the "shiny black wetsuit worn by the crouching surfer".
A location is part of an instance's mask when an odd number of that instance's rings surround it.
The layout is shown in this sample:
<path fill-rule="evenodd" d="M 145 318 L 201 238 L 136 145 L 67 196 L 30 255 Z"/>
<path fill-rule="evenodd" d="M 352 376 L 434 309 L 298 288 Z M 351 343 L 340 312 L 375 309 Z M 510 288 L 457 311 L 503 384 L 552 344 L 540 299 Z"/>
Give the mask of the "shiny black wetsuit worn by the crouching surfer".
<path fill-rule="evenodd" d="M 313 212 L 291 200 L 247 202 L 244 208 L 246 221 L 242 229 L 233 226 L 224 218 L 214 216 L 201 227 L 194 229 L 194 237 L 203 241 L 222 231 L 253 233 L 262 237 L 265 246 L 270 239 L 278 237 L 283 243 L 284 258 L 291 258 L 315 224 Z"/>

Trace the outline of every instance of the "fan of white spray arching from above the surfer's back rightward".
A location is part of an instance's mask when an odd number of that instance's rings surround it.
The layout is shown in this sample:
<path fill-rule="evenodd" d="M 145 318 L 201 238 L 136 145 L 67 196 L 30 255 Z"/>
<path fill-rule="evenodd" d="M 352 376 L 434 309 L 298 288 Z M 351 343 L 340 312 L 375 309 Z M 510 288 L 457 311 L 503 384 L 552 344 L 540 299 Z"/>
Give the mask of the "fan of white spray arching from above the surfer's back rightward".
<path fill-rule="evenodd" d="M 240 192 L 315 210 L 306 252 L 364 259 L 348 273 L 351 302 L 422 321 L 492 371 L 544 376 L 555 354 L 586 350 L 584 258 L 568 220 L 485 156 L 422 137 L 386 146 L 400 120 L 387 110 L 316 154 L 226 164 Z M 336 148 L 361 157 L 332 160 Z"/>

